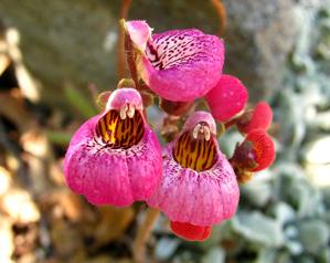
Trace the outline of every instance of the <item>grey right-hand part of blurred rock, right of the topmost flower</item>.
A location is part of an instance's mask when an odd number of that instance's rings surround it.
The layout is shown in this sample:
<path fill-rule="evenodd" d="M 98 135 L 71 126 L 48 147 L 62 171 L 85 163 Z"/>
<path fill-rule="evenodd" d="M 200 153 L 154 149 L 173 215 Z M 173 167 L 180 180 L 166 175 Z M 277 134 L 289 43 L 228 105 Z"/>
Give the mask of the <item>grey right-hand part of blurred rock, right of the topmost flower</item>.
<path fill-rule="evenodd" d="M 296 1 L 223 1 L 227 9 L 225 69 L 238 76 L 256 102 L 279 88 L 299 24 Z"/>

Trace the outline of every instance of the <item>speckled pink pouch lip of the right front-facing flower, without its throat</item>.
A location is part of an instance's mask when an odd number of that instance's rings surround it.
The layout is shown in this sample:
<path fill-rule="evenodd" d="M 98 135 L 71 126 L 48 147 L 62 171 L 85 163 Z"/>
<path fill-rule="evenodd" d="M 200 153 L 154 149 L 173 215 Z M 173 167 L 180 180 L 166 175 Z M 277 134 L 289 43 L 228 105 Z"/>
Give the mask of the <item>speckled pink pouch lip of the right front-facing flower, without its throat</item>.
<path fill-rule="evenodd" d="M 207 227 L 233 217 L 239 189 L 230 162 L 219 150 L 212 169 L 196 172 L 182 168 L 172 157 L 171 143 L 164 149 L 163 178 L 147 202 L 171 221 Z"/>

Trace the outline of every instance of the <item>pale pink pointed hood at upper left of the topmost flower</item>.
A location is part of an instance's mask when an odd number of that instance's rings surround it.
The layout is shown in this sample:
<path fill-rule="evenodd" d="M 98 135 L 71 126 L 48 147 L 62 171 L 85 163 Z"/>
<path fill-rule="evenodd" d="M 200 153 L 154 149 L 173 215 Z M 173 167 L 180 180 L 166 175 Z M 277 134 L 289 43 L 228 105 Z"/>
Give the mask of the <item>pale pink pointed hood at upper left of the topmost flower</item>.
<path fill-rule="evenodd" d="M 149 24 L 146 21 L 137 20 L 125 22 L 125 27 L 136 48 L 145 52 L 152 31 Z"/>

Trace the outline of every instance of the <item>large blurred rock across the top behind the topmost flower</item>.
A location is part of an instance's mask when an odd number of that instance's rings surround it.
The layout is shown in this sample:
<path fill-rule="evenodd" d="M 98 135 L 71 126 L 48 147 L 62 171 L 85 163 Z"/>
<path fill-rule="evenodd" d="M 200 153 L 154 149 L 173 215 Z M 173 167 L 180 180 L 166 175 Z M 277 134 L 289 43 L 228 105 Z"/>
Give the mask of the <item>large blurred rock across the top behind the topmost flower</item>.
<path fill-rule="evenodd" d="M 223 1 L 227 11 L 225 72 L 242 78 L 252 101 L 279 87 L 298 29 L 296 2 Z M 18 29 L 23 62 L 41 82 L 43 99 L 65 104 L 62 90 L 67 85 L 85 94 L 91 83 L 99 91 L 115 88 L 119 4 L 115 0 L 1 0 L 0 17 L 7 27 Z M 215 34 L 220 28 L 209 1 L 132 2 L 129 18 L 146 19 L 155 32 L 198 28 Z"/>

